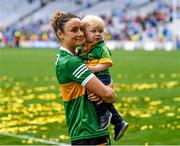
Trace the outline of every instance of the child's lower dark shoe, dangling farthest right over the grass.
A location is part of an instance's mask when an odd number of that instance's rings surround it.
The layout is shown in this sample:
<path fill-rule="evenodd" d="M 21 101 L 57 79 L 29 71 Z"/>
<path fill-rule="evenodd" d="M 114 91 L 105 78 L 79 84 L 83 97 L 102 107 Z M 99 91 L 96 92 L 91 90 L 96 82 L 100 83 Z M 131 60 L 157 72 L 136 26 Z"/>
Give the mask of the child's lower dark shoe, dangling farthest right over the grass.
<path fill-rule="evenodd" d="M 121 139 L 121 137 L 126 132 L 127 128 L 128 128 L 128 123 L 125 121 L 122 121 L 120 124 L 116 125 L 114 127 L 114 132 L 115 132 L 114 140 L 118 141 L 119 139 Z"/>

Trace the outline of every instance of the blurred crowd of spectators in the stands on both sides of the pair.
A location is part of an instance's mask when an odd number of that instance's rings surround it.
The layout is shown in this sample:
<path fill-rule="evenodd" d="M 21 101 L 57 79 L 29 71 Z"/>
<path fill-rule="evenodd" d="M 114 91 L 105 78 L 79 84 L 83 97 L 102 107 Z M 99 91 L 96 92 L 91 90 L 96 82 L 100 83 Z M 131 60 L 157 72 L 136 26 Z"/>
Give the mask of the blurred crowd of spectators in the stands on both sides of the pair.
<path fill-rule="evenodd" d="M 33 1 L 28 0 L 29 3 Z M 42 0 L 43 5 L 46 2 L 48 1 Z M 87 7 L 91 7 L 90 2 L 92 1 L 76 0 L 77 4 L 85 4 Z M 130 7 L 131 5 L 127 3 L 124 9 L 112 10 L 110 16 L 101 15 L 106 24 L 106 40 L 172 41 L 172 30 L 168 27 L 173 19 L 172 5 L 159 1 L 155 11 L 131 16 L 127 13 Z M 54 32 L 50 27 L 50 19 L 31 20 L 28 23 L 19 21 L 16 25 L 9 26 L 6 29 L 0 28 L 0 42 L 8 45 L 15 44 L 18 47 L 19 42 L 25 40 L 56 41 Z"/>

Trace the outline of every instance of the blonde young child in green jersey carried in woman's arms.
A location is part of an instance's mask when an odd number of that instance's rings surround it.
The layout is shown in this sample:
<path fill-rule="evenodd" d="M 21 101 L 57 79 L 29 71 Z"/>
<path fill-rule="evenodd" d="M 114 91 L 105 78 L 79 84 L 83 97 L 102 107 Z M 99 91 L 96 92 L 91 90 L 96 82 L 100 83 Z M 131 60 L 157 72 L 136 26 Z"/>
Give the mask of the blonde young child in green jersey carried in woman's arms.
<path fill-rule="evenodd" d="M 103 40 L 104 22 L 100 17 L 87 15 L 82 19 L 82 27 L 86 41 L 79 51 L 79 56 L 105 85 L 109 85 L 112 81 L 108 68 L 112 66 L 112 60 Z M 100 128 L 107 128 L 111 122 L 114 125 L 114 140 L 119 140 L 128 128 L 128 123 L 122 119 L 113 104 L 105 102 L 93 104 Z"/>

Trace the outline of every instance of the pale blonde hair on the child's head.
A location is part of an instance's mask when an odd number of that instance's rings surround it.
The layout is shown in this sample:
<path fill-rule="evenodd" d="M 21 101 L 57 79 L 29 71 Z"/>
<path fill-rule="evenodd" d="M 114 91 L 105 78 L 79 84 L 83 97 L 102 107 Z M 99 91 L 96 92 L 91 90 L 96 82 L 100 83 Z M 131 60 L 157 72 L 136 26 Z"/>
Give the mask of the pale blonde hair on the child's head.
<path fill-rule="evenodd" d="M 82 19 L 82 26 L 83 28 L 86 28 L 88 26 L 93 26 L 93 27 L 99 27 L 104 31 L 104 21 L 102 20 L 101 17 L 95 16 L 95 15 L 87 15 Z"/>

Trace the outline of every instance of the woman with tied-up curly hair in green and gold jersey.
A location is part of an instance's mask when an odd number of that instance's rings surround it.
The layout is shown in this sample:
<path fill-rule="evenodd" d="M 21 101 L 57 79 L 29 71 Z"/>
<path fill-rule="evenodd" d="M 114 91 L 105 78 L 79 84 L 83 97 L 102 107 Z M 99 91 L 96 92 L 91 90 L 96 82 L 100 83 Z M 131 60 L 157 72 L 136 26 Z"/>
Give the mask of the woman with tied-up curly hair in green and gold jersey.
<path fill-rule="evenodd" d="M 114 91 L 105 86 L 75 56 L 75 49 L 84 42 L 79 17 L 57 11 L 51 20 L 61 47 L 57 54 L 56 75 L 63 96 L 65 116 L 72 145 L 107 145 L 109 133 L 100 130 L 96 112 L 85 90 L 93 92 L 107 103 L 115 101 Z M 90 97 L 97 100 L 96 96 Z"/>

